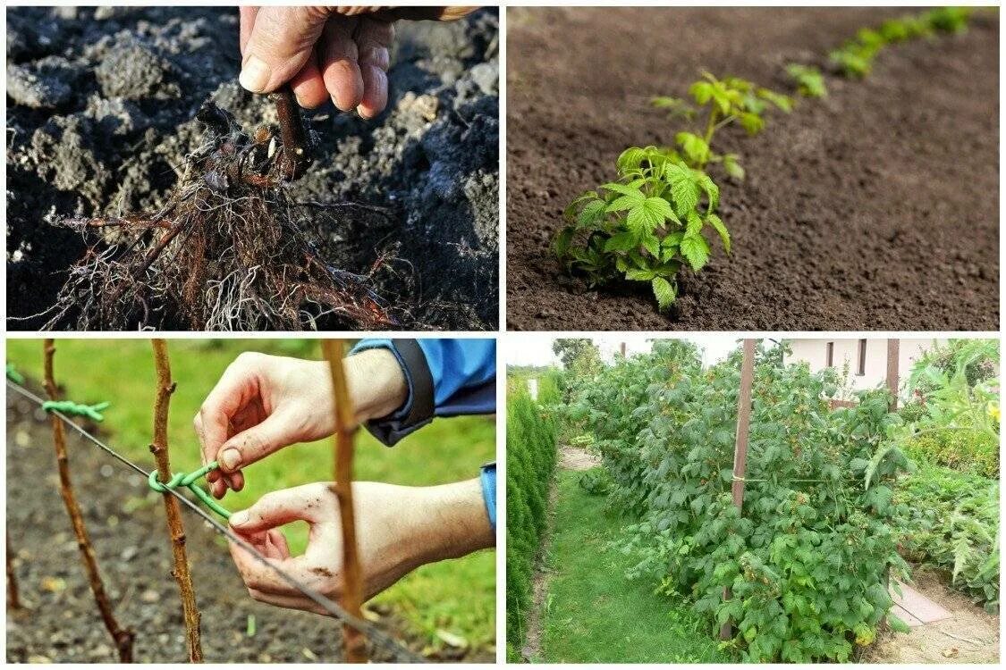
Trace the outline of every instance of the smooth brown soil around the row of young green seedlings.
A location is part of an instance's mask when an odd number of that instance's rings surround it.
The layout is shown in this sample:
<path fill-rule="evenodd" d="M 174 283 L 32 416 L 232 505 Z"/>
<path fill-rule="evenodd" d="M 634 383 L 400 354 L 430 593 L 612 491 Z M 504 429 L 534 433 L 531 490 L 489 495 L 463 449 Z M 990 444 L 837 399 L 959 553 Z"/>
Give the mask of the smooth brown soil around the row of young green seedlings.
<path fill-rule="evenodd" d="M 517 329 L 999 329 L 999 28 L 892 45 L 862 81 L 772 115 L 726 151 L 733 235 L 660 314 L 649 286 L 589 290 L 549 242 L 627 147 L 666 145 L 649 106 L 701 68 L 789 90 L 903 9 L 512 9 L 507 70 L 507 323 Z M 910 10 L 909 10 L 910 11 Z M 561 57 L 556 57 L 561 54 Z"/>

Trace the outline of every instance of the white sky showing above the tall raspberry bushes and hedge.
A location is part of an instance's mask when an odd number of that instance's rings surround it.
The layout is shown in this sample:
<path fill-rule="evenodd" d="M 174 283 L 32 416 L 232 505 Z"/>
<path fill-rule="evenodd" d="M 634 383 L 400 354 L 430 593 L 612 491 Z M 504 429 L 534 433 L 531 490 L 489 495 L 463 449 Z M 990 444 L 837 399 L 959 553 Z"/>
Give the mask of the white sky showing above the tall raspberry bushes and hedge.
<path fill-rule="evenodd" d="M 685 336 L 681 339 L 698 345 L 702 350 L 702 364 L 705 366 L 722 361 L 737 346 L 735 336 L 699 334 Z M 505 340 L 500 340 L 500 343 L 505 343 L 503 353 L 507 365 L 558 365 L 558 359 L 552 354 L 552 340 L 554 338 L 544 334 L 509 332 Z M 619 352 L 623 342 L 626 344 L 626 354 L 629 356 L 649 352 L 651 345 L 647 342 L 647 337 L 635 333 L 605 336 L 593 340 L 601 350 L 601 358 L 608 362 L 611 362 Z"/>

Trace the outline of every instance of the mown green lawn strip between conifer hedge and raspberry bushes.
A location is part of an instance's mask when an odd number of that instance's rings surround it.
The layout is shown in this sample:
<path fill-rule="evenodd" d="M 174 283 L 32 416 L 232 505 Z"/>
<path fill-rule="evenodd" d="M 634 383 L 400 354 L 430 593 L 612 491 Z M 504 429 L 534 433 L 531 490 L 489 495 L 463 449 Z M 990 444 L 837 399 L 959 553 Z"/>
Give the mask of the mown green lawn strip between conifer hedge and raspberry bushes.
<path fill-rule="evenodd" d="M 625 579 L 632 557 L 608 548 L 621 535 L 623 521 L 606 511 L 604 496 L 579 486 L 581 475 L 568 470 L 557 474 L 540 660 L 729 662 L 687 603 L 657 596 L 648 584 Z"/>

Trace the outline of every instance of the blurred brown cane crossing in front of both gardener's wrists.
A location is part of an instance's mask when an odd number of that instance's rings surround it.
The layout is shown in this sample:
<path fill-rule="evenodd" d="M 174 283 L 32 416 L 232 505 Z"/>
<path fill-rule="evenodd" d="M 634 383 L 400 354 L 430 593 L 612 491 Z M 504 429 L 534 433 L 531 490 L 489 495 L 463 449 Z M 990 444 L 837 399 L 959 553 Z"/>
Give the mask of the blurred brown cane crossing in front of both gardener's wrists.
<path fill-rule="evenodd" d="M 363 579 L 356 545 L 356 520 L 353 515 L 353 405 L 342 366 L 345 353 L 341 340 L 323 340 L 322 349 L 332 374 L 335 396 L 335 496 L 339 501 L 342 523 L 342 598 L 340 605 L 354 617 L 362 618 Z M 363 634 L 348 624 L 342 627 L 345 660 L 366 663 L 367 648 Z"/>

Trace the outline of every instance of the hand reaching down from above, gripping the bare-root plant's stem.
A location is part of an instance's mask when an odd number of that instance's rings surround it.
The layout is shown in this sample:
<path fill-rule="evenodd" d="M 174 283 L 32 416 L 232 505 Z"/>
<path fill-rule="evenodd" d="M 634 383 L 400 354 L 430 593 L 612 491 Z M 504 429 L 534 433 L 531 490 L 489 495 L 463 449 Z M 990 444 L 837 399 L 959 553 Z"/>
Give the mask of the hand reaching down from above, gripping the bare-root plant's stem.
<path fill-rule="evenodd" d="M 241 7 L 242 86 L 256 93 L 290 81 L 302 106 L 329 97 L 364 119 L 387 104 L 388 47 L 399 18 L 452 20 L 465 7 Z"/>

